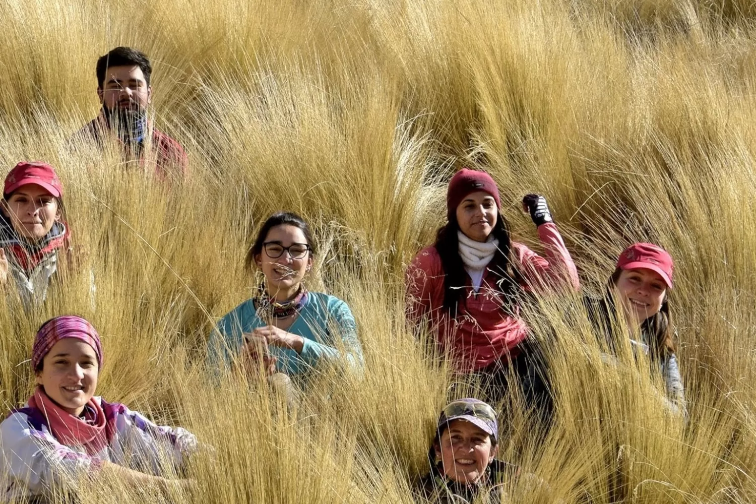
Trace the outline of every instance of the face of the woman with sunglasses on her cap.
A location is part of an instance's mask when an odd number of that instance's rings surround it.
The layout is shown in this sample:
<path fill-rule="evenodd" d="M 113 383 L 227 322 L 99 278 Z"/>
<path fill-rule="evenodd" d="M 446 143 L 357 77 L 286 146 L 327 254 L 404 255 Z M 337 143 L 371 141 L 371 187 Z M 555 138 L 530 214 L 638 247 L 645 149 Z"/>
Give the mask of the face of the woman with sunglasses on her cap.
<path fill-rule="evenodd" d="M 436 451 L 441 450 L 444 474 L 452 481 L 476 483 L 496 456 L 491 436 L 466 420 L 454 420 L 441 436 Z"/>

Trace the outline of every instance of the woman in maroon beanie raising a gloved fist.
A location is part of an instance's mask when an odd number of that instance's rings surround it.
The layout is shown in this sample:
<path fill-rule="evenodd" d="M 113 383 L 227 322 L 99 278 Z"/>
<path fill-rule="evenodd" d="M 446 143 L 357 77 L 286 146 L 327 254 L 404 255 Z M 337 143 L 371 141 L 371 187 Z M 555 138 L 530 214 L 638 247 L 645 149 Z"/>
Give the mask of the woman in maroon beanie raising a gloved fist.
<path fill-rule="evenodd" d="M 520 378 L 527 371 L 521 294 L 578 289 L 578 274 L 544 196 L 528 194 L 522 206 L 545 257 L 510 240 L 498 187 L 487 173 L 457 172 L 446 201 L 448 224 L 407 270 L 409 317 L 428 320 L 455 368 L 482 375 L 495 399 L 505 391 L 510 365 Z"/>

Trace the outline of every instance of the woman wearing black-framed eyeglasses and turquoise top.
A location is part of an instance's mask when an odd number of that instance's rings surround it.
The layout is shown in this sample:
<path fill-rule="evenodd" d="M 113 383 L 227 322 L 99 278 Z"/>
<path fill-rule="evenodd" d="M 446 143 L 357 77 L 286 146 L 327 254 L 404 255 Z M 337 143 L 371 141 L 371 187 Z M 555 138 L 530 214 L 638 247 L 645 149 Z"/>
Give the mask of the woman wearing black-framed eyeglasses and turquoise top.
<path fill-rule="evenodd" d="M 339 298 L 308 292 L 315 243 L 299 215 L 278 212 L 262 225 L 246 267 L 265 276 L 255 295 L 220 320 L 209 342 L 211 365 L 232 361 L 278 382 L 306 378 L 330 364 L 360 369 L 355 318 Z"/>

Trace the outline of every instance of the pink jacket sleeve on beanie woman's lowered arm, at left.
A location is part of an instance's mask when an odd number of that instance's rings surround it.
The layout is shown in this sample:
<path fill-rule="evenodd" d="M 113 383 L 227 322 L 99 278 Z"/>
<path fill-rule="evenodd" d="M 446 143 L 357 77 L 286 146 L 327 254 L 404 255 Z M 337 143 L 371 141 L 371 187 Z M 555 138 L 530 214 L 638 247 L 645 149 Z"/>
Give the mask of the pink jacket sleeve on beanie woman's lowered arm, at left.
<path fill-rule="evenodd" d="M 444 302 L 444 270 L 438 252 L 421 250 L 407 267 L 407 317 L 420 320 Z"/>

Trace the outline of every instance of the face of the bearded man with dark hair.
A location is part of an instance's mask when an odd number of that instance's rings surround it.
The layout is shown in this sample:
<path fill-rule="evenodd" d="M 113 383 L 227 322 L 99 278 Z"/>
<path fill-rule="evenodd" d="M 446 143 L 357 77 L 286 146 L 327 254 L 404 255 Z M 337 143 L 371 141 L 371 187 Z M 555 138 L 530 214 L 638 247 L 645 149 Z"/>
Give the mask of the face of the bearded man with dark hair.
<path fill-rule="evenodd" d="M 138 65 L 109 66 L 105 70 L 102 88 L 97 92 L 101 103 L 109 110 L 143 110 L 152 97 L 152 87 L 147 85 L 144 72 Z"/>

